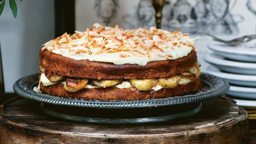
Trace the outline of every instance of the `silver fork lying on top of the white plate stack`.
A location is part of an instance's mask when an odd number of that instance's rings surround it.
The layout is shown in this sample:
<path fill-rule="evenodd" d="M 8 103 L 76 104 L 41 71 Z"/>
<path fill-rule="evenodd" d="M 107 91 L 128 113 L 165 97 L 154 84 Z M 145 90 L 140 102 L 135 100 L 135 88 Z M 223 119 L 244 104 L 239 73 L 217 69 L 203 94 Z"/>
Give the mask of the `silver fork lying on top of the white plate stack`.
<path fill-rule="evenodd" d="M 213 40 L 214 41 L 218 41 L 218 42 L 223 42 L 225 44 L 228 44 L 230 46 L 239 46 L 239 47 L 243 47 L 243 48 L 251 48 L 251 47 L 255 47 L 256 46 L 256 43 L 255 44 L 243 44 L 245 42 L 249 42 L 253 39 L 256 39 L 256 35 L 245 35 L 243 37 L 238 37 L 236 39 L 232 39 L 230 41 L 225 41 L 223 39 L 219 39 L 211 34 L 207 34 L 211 37 L 213 37 Z"/>

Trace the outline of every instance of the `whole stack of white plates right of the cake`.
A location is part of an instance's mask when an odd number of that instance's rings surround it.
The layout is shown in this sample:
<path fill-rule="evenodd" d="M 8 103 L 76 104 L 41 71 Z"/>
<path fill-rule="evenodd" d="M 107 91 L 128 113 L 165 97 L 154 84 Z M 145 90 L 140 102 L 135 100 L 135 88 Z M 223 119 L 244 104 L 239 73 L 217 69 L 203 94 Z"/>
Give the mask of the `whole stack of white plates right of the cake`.
<path fill-rule="evenodd" d="M 206 70 L 230 83 L 228 95 L 237 105 L 256 109 L 256 47 L 239 48 L 219 42 L 211 42 L 213 52 L 204 60 L 211 64 Z"/>

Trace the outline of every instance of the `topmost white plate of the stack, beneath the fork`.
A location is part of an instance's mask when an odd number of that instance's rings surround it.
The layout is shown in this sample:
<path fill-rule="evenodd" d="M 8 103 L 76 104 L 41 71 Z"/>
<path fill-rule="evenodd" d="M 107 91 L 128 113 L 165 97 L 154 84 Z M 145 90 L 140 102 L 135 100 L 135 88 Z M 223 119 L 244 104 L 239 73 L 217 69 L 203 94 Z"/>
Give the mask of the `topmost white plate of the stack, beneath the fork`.
<path fill-rule="evenodd" d="M 208 44 L 208 48 L 229 59 L 236 61 L 256 62 L 256 47 L 239 48 L 236 46 L 228 46 L 220 42 L 211 42 Z"/>

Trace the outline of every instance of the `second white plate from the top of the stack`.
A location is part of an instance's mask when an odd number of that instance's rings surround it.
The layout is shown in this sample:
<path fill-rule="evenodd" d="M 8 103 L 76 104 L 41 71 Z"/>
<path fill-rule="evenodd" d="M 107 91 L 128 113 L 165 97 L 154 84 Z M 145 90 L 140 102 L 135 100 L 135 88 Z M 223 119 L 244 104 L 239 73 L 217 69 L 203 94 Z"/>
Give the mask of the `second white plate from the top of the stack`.
<path fill-rule="evenodd" d="M 226 60 L 223 56 L 209 53 L 204 60 L 224 72 L 256 75 L 256 63 Z"/>

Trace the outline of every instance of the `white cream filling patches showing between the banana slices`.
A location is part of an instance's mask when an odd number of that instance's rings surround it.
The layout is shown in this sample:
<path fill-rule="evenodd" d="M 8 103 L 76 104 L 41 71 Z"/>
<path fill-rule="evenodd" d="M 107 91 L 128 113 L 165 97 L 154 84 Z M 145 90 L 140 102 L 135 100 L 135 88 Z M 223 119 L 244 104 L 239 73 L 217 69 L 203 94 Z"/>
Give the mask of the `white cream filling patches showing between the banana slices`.
<path fill-rule="evenodd" d="M 40 81 L 43 84 L 43 86 L 49 86 L 49 85 L 55 85 L 57 83 L 53 83 L 52 81 L 50 81 L 46 76 L 45 73 L 42 73 L 40 76 Z M 191 80 L 190 79 L 184 79 L 181 78 L 180 81 L 178 82 L 179 85 L 182 84 L 186 84 L 186 83 L 190 83 Z M 64 82 L 58 82 L 58 83 L 64 83 Z M 123 81 L 122 83 L 115 85 L 114 87 L 118 88 L 118 89 L 128 89 L 128 88 L 134 88 L 131 83 L 129 81 Z M 92 86 L 92 85 L 86 85 L 85 89 L 95 89 L 95 88 L 102 88 L 102 87 L 98 87 L 98 86 Z M 163 87 L 161 85 L 156 85 L 155 87 L 152 87 L 152 90 L 154 91 L 158 91 L 160 89 L 163 89 Z"/>

